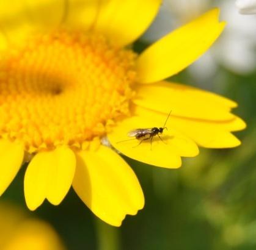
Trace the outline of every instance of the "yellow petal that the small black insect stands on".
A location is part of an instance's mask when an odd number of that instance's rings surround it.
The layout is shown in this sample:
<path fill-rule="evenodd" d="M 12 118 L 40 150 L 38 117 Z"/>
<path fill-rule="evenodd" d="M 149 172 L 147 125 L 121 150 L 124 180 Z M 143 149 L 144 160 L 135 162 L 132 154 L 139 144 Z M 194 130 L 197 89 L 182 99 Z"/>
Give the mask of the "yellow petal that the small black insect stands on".
<path fill-rule="evenodd" d="M 164 120 L 154 116 L 141 119 L 138 116 L 127 118 L 120 122 L 108 135 L 111 145 L 126 156 L 154 166 L 163 168 L 178 168 L 181 166 L 180 156 L 193 157 L 199 154 L 196 143 L 174 129 L 164 130 L 160 135 L 163 141 L 155 136 L 152 140 L 142 141 L 127 137 L 127 133 L 144 127 L 161 127 Z"/>

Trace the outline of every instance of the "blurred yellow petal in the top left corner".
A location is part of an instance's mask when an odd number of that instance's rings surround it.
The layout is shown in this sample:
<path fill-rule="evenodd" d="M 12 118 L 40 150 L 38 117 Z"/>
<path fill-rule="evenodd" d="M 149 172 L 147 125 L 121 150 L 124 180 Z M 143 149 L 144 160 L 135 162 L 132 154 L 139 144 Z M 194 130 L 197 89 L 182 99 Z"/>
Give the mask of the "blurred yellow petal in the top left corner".
<path fill-rule="evenodd" d="M 63 21 L 65 1 L 13 0 L 0 2 L 0 30 L 20 46 L 31 32 L 55 29 Z"/>

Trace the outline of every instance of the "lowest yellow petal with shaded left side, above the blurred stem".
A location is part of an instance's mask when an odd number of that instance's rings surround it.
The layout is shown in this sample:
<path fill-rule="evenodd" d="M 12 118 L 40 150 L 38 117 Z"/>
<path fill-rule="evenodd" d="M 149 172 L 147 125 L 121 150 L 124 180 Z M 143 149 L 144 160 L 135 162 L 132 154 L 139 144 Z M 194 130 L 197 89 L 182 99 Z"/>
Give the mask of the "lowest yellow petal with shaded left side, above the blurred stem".
<path fill-rule="evenodd" d="M 120 226 L 125 215 L 144 207 L 144 196 L 130 166 L 112 149 L 77 154 L 73 187 L 95 215 L 112 226 Z"/>

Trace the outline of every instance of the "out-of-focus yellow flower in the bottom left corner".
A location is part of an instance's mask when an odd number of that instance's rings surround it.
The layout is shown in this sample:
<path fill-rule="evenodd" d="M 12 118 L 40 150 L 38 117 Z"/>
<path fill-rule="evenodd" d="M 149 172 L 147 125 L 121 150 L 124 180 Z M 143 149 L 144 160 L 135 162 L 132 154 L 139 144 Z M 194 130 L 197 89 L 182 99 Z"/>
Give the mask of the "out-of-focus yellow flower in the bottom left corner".
<path fill-rule="evenodd" d="M 48 223 L 7 203 L 0 204 L 0 241 L 2 250 L 65 249 Z"/>

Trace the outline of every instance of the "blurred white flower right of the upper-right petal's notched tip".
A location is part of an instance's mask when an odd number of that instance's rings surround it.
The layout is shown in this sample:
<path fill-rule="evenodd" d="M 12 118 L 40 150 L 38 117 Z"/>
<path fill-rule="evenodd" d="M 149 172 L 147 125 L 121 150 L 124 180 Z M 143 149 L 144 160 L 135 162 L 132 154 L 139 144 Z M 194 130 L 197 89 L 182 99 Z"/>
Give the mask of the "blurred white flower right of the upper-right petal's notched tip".
<path fill-rule="evenodd" d="M 256 68 L 256 16 L 240 15 L 233 0 L 224 1 L 220 7 L 227 27 L 213 52 L 229 70 L 250 73 Z"/>

